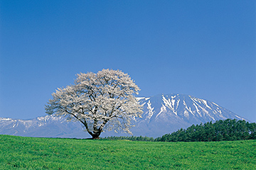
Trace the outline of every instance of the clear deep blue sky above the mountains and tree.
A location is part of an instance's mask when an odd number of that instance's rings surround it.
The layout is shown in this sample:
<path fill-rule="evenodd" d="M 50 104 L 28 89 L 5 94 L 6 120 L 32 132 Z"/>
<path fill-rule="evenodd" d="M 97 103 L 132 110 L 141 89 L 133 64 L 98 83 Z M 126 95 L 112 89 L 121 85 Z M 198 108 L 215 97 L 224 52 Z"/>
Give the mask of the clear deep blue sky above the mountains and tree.
<path fill-rule="evenodd" d="M 189 94 L 256 122 L 256 1 L 0 1 L 0 117 L 36 118 L 75 74 Z"/>

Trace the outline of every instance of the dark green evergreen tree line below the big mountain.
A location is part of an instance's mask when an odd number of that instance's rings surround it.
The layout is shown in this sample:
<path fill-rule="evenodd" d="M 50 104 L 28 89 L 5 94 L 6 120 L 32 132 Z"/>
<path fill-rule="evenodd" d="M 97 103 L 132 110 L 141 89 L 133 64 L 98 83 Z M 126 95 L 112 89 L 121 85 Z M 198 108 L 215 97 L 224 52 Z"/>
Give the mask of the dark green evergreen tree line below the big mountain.
<path fill-rule="evenodd" d="M 217 120 L 200 125 L 191 125 L 171 134 L 157 137 L 157 142 L 210 142 L 223 140 L 256 140 L 256 123 L 245 120 Z"/>

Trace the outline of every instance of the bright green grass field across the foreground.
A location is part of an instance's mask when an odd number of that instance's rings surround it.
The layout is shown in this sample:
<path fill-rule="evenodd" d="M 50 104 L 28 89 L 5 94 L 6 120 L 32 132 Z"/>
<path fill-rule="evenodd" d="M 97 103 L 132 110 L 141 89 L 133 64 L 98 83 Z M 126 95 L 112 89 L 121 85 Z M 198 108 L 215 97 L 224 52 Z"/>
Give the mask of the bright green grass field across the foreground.
<path fill-rule="evenodd" d="M 132 142 L 0 135 L 0 169 L 256 169 L 256 140 Z"/>

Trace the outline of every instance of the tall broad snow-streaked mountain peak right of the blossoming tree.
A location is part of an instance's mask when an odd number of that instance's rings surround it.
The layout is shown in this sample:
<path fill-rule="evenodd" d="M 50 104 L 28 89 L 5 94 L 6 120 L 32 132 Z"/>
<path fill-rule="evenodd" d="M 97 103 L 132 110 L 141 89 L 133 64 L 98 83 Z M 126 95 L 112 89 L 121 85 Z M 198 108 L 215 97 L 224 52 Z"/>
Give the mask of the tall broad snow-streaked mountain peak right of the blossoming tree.
<path fill-rule="evenodd" d="M 159 95 L 139 101 L 144 105 L 144 113 L 132 129 L 136 135 L 158 137 L 193 124 L 228 118 L 245 120 L 216 103 L 188 95 Z"/>

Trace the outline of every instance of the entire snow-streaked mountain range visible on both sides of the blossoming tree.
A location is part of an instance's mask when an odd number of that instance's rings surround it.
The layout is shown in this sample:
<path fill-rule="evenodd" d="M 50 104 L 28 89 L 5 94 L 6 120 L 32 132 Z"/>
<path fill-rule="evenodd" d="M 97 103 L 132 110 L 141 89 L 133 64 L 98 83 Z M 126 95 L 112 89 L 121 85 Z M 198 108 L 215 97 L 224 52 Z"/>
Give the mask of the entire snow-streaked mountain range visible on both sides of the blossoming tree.
<path fill-rule="evenodd" d="M 169 94 L 138 98 L 144 106 L 142 118 L 134 119 L 131 129 L 135 136 L 160 137 L 193 124 L 220 119 L 245 120 L 218 104 L 188 95 Z M 67 122 L 65 118 L 46 115 L 31 120 L 0 118 L 0 134 L 30 137 L 87 138 L 79 122 Z M 126 135 L 103 132 L 101 137 Z"/>

